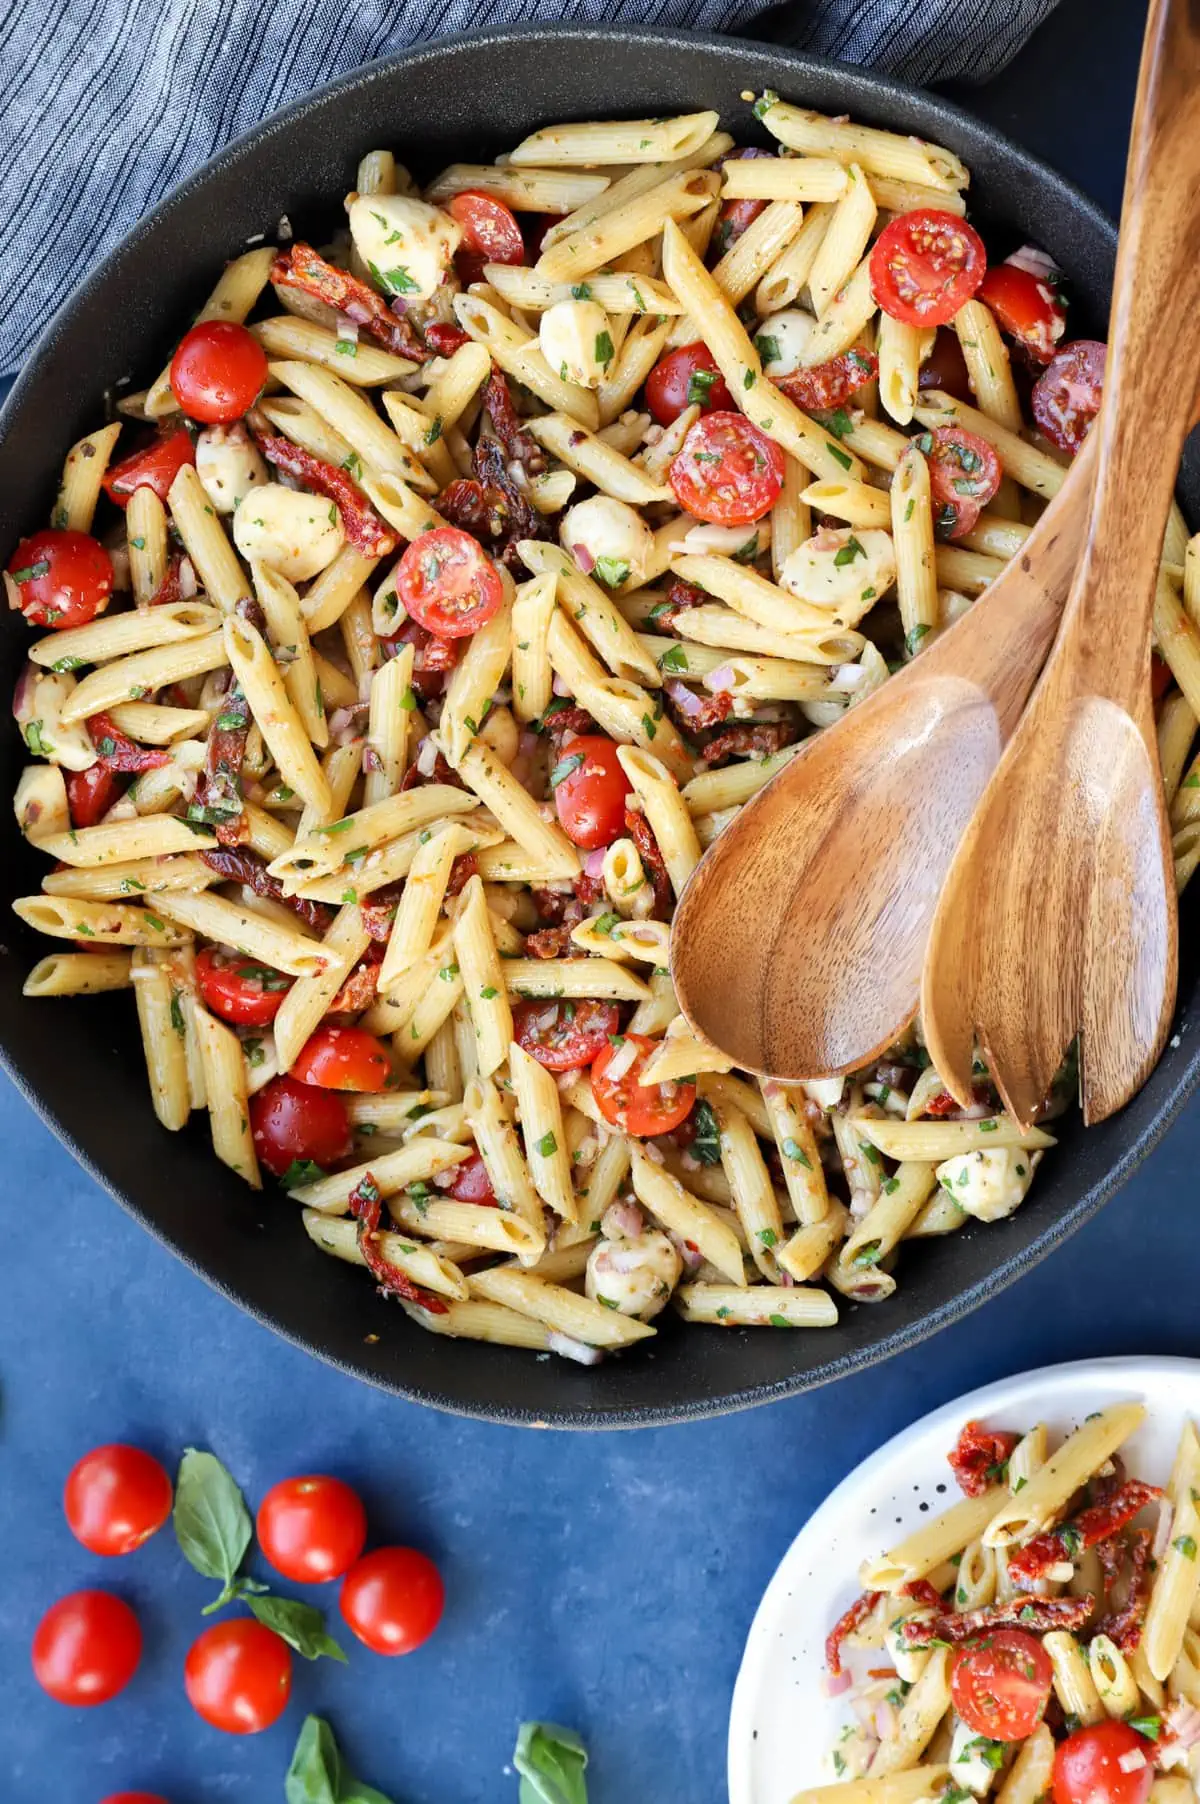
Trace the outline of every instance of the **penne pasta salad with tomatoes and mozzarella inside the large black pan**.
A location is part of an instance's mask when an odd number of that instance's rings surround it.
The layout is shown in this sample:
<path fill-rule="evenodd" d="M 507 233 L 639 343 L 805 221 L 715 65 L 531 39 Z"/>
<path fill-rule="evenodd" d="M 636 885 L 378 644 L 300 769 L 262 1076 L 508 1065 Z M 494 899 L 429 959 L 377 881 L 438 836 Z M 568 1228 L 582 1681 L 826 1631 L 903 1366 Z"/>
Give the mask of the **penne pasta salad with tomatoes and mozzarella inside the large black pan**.
<path fill-rule="evenodd" d="M 673 907 L 1020 554 L 1104 346 L 953 150 L 803 94 L 406 155 L 332 227 L 215 240 L 0 547 L 23 994 L 135 1014 L 130 1117 L 399 1331 L 585 1366 L 680 1321 L 837 1331 L 911 1243 L 1012 1216 L 1074 1072 L 1029 1133 L 918 1030 L 760 1082 L 678 1010 Z M 1186 880 L 1178 509 L 1164 556 Z"/>

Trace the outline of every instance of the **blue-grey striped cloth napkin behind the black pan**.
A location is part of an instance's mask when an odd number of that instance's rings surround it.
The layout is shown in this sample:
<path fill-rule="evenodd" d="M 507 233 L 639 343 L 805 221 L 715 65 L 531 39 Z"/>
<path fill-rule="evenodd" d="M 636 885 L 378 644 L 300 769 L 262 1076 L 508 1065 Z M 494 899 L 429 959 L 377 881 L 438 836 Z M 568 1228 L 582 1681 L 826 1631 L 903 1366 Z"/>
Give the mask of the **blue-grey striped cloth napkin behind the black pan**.
<path fill-rule="evenodd" d="M 929 83 L 983 81 L 1054 0 L 799 0 L 771 36 Z M 0 218 L 13 372 L 81 272 L 229 139 L 404 45 L 522 22 L 752 36 L 762 0 L 9 0 Z"/>

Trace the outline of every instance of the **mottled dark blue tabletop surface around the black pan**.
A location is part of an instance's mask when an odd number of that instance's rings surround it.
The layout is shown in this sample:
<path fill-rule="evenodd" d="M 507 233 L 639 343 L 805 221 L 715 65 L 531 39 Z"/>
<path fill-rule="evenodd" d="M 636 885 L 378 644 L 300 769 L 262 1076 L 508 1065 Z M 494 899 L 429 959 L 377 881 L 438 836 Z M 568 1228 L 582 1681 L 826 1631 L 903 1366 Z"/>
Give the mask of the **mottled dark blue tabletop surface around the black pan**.
<path fill-rule="evenodd" d="M 1000 81 L 960 99 L 1115 213 L 1139 36 L 1137 0 L 1065 0 Z M 1195 1111 L 1097 1221 L 958 1328 L 790 1404 L 619 1436 L 485 1427 L 368 1391 L 213 1295 L 7 1086 L 0 1146 L 14 1178 L 0 1306 L 4 1804 L 97 1804 L 125 1788 L 171 1804 L 269 1804 L 310 1708 L 397 1804 L 514 1800 L 505 1764 L 531 1716 L 585 1735 L 594 1804 L 718 1804 L 758 1597 L 864 1454 L 1009 1371 L 1200 1353 Z M 211 1447 L 251 1503 L 289 1472 L 348 1477 L 375 1541 L 438 1559 L 449 1595 L 438 1634 L 397 1661 L 357 1645 L 348 1667 L 298 1660 L 292 1707 L 272 1730 L 238 1741 L 206 1728 L 184 1699 L 182 1661 L 211 1588 L 170 1532 L 105 1562 L 63 1521 L 67 1470 L 105 1440 L 171 1467 L 184 1445 Z M 87 1584 L 128 1597 L 146 1649 L 115 1705 L 72 1712 L 34 1685 L 29 1642 L 47 1604 Z"/>

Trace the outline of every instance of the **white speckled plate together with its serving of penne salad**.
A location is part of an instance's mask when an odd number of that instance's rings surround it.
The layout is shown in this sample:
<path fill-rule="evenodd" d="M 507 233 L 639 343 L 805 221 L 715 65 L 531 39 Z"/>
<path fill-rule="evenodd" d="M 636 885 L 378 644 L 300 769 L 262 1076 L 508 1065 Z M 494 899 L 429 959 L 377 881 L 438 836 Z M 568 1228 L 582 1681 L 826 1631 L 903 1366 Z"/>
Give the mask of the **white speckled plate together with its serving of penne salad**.
<path fill-rule="evenodd" d="M 897 1434 L 760 1604 L 731 1804 L 1193 1804 L 1200 1366 L 1005 1378 Z"/>

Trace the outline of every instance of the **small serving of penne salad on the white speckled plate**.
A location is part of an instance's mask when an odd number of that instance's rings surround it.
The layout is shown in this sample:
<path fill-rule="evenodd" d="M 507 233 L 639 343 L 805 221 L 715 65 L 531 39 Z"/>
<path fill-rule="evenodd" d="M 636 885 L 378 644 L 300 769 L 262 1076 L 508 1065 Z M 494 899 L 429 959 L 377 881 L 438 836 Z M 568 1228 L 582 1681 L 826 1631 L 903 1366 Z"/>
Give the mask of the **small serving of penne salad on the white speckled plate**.
<path fill-rule="evenodd" d="M 866 1560 L 826 1642 L 854 1707 L 817 1799 L 1193 1804 L 1200 1781 L 1200 1441 L 1164 1486 L 1119 1449 L 1115 1404 L 1057 1447 L 967 1422 L 960 1503 Z M 863 1654 L 855 1681 L 846 1649 Z M 857 1658 L 857 1654 L 855 1654 Z"/>

